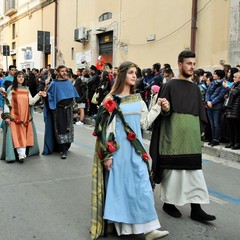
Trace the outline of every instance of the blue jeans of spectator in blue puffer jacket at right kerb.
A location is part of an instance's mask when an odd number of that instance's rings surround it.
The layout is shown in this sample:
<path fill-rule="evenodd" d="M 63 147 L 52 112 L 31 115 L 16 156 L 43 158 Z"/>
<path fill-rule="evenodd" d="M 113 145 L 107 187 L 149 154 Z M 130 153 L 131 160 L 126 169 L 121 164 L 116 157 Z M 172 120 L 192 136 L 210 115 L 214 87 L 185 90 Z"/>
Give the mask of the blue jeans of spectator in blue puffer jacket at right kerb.
<path fill-rule="evenodd" d="M 211 124 L 212 138 L 215 140 L 220 139 L 220 122 L 221 122 L 222 109 L 211 110 L 207 109 L 207 115 Z"/>

